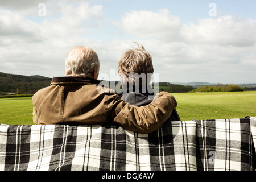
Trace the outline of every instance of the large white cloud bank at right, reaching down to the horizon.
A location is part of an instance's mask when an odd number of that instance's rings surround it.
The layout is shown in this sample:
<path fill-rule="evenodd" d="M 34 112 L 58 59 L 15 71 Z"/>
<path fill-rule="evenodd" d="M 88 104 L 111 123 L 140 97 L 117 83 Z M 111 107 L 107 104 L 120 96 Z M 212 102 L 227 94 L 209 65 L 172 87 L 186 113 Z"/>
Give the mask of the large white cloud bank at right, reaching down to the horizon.
<path fill-rule="evenodd" d="M 253 19 L 233 15 L 182 24 L 168 11 L 131 11 L 122 24 L 125 31 L 141 38 L 139 43 L 153 57 L 155 73 L 165 75 L 166 81 L 184 80 L 186 75 L 187 82 L 205 81 L 205 77 L 213 82 L 230 82 L 234 77 L 236 82 L 246 82 L 244 72 L 256 68 Z"/>

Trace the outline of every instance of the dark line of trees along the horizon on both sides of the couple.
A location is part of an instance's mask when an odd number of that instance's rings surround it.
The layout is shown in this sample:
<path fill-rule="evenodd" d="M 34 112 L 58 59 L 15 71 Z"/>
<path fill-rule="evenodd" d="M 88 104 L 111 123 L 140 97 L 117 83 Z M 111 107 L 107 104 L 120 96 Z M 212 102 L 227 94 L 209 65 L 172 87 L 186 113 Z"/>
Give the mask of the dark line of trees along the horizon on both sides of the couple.
<path fill-rule="evenodd" d="M 14 75 L 0 72 L 0 94 L 15 93 L 15 94 L 33 94 L 37 90 L 42 89 L 51 84 L 52 78 L 43 76 L 23 76 Z M 114 85 L 118 81 L 114 81 Z M 110 85 L 110 84 L 109 84 Z M 152 88 L 158 86 L 159 92 L 166 91 L 170 93 L 184 93 L 184 92 L 237 92 L 247 90 L 237 85 L 223 85 L 217 84 L 216 86 L 200 86 L 199 88 L 189 85 L 171 84 L 169 82 L 152 83 Z M 248 88 L 254 89 L 255 88 Z"/>

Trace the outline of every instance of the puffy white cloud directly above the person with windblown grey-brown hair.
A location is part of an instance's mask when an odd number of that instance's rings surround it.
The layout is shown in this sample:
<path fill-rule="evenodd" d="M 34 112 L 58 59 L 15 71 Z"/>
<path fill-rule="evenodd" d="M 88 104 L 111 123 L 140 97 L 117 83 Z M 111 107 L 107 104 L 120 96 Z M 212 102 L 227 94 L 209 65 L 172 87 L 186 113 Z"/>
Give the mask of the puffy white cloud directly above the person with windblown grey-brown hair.
<path fill-rule="evenodd" d="M 167 9 L 152 11 L 131 11 L 122 18 L 122 28 L 137 38 L 155 38 L 165 41 L 176 39 L 181 27 L 179 17 L 170 16 Z"/>

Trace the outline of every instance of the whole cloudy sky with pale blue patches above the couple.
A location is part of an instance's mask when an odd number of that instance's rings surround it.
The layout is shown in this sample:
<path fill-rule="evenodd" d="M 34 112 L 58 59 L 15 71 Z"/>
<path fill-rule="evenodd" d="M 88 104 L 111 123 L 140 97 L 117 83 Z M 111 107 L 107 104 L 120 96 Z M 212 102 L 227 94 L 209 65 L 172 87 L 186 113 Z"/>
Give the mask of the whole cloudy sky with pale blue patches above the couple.
<path fill-rule="evenodd" d="M 99 79 L 118 80 L 137 42 L 159 81 L 255 83 L 255 10 L 255 0 L 0 0 L 0 72 L 63 76 L 83 45 L 98 53 Z"/>

